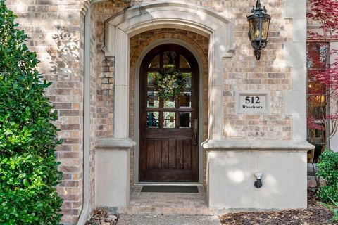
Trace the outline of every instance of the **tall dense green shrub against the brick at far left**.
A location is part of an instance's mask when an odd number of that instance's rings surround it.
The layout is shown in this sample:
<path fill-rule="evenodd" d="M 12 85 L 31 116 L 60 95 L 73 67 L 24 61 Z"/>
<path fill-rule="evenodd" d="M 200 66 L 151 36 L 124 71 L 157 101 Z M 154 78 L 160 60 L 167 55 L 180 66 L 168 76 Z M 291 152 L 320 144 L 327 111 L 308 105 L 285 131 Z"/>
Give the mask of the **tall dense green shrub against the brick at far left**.
<path fill-rule="evenodd" d="M 57 119 L 27 49 L 27 35 L 0 0 L 0 224 L 58 224 Z"/>

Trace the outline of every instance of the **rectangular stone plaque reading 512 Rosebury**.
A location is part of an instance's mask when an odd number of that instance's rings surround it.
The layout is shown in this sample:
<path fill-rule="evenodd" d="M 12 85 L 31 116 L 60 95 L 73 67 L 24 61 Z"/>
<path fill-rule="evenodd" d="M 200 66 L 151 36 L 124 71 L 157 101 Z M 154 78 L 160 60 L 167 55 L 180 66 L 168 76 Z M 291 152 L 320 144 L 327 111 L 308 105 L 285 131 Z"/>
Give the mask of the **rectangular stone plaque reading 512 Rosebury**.
<path fill-rule="evenodd" d="M 250 91 L 239 92 L 236 99 L 236 113 L 261 114 L 268 113 L 270 100 L 267 92 Z"/>

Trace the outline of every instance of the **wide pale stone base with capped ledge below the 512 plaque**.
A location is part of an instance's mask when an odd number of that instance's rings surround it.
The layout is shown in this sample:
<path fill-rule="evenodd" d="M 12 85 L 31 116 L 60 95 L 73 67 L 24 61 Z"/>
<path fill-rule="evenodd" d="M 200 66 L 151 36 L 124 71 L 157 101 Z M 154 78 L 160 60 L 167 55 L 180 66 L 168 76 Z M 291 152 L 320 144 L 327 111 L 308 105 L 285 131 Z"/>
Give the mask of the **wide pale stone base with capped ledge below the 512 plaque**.
<path fill-rule="evenodd" d="M 270 210 L 306 208 L 307 141 L 222 140 L 208 150 L 209 207 Z M 256 188 L 255 173 L 263 173 Z"/>

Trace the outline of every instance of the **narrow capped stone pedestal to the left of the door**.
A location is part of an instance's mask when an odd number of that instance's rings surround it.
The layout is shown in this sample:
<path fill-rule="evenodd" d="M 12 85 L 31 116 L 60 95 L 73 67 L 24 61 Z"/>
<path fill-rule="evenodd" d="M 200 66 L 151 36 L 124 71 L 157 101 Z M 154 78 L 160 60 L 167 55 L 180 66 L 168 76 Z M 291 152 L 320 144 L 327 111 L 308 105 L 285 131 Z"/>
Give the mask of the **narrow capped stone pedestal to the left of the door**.
<path fill-rule="evenodd" d="M 131 139 L 99 139 L 96 143 L 96 206 L 129 204 Z"/>

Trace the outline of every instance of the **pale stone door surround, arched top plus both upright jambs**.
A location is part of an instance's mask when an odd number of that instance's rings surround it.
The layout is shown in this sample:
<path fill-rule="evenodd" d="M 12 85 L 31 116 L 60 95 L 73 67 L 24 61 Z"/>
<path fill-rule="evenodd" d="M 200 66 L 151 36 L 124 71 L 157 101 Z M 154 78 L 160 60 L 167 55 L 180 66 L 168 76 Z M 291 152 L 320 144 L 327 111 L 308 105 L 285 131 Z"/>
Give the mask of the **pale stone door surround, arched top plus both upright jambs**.
<path fill-rule="evenodd" d="M 201 6 L 173 1 L 155 1 L 127 8 L 106 21 L 104 52 L 115 56 L 114 137 L 129 136 L 130 37 L 158 28 L 178 28 L 209 37 L 208 135 L 221 139 L 223 131 L 222 58 L 234 52 L 232 22 Z"/>

